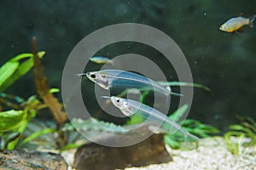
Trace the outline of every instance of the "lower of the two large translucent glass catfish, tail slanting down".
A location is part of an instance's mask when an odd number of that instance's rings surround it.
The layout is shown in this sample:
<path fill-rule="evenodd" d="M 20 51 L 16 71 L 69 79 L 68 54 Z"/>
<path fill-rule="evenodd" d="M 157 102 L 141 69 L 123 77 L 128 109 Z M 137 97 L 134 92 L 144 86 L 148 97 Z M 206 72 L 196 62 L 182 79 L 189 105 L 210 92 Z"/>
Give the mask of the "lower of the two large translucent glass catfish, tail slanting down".
<path fill-rule="evenodd" d="M 103 98 L 109 97 L 103 96 Z M 149 107 L 148 105 L 144 105 L 132 99 L 123 99 L 116 96 L 111 96 L 110 99 L 113 105 L 119 108 L 119 110 L 122 111 L 125 116 L 139 114 L 139 116 L 142 116 L 144 120 L 147 119 L 155 125 L 160 125 L 160 127 L 163 128 L 166 133 L 179 131 L 183 133 L 185 139 L 189 137 L 199 140 L 199 138 L 195 135 L 185 131 L 179 124 L 177 124 L 177 122 L 173 122 L 168 116 L 152 107 Z"/>

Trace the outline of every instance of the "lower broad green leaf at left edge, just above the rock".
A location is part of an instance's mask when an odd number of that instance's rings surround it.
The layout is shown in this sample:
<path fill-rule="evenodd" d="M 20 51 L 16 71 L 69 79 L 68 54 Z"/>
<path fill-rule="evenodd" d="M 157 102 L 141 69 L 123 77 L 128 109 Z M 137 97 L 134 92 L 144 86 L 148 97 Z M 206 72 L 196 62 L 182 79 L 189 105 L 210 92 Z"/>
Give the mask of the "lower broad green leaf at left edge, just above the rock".
<path fill-rule="evenodd" d="M 10 110 L 0 112 L 0 132 L 3 133 L 20 127 L 25 118 L 26 113 L 24 111 Z"/>

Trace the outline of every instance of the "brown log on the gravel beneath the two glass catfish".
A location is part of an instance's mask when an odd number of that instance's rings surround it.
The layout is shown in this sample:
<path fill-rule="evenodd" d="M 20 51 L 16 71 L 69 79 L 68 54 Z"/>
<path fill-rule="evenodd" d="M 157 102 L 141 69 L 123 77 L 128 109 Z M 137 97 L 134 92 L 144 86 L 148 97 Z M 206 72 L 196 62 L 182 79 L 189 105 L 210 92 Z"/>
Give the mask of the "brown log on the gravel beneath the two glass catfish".
<path fill-rule="evenodd" d="M 76 169 L 122 169 L 142 167 L 172 161 L 165 148 L 163 135 L 154 134 L 139 144 L 127 147 L 107 147 L 90 143 L 81 146 L 75 154 Z"/>

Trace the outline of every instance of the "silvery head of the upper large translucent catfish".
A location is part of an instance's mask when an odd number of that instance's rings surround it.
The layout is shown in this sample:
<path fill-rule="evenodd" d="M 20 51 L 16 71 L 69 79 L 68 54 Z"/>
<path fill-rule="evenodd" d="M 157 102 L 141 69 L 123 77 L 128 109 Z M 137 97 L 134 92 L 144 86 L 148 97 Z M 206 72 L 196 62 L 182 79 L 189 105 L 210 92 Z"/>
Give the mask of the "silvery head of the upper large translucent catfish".
<path fill-rule="evenodd" d="M 104 89 L 109 89 L 109 80 L 107 75 L 101 73 L 100 71 L 91 71 L 86 73 L 86 77 L 90 79 L 90 81 L 95 82 L 97 85 Z"/>

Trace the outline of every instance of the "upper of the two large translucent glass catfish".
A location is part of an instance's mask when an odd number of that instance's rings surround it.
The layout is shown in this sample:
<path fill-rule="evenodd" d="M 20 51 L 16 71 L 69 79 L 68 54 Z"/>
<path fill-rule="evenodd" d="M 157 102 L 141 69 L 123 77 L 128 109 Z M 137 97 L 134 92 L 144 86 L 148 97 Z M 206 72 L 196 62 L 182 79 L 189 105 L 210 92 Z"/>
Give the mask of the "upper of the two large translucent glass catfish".
<path fill-rule="evenodd" d="M 104 89 L 121 91 L 125 89 L 137 88 L 138 90 L 154 91 L 154 93 L 169 96 L 173 93 L 169 86 L 162 86 L 159 82 L 155 82 L 148 77 L 144 77 L 131 71 L 122 70 L 102 70 L 81 73 L 77 76 L 88 77 L 90 81 Z M 181 96 L 182 94 L 176 94 Z"/>

